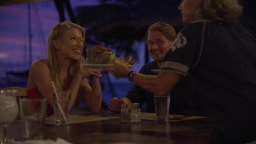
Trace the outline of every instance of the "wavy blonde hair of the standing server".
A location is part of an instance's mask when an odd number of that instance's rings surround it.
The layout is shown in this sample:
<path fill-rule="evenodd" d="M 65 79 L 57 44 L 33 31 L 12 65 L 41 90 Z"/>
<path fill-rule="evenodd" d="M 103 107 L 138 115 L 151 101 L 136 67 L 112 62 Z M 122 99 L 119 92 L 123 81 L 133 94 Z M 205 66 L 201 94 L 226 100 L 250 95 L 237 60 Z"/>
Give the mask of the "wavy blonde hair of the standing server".
<path fill-rule="evenodd" d="M 234 24 L 240 20 L 243 7 L 237 0 L 201 0 L 196 20 L 220 21 Z"/>

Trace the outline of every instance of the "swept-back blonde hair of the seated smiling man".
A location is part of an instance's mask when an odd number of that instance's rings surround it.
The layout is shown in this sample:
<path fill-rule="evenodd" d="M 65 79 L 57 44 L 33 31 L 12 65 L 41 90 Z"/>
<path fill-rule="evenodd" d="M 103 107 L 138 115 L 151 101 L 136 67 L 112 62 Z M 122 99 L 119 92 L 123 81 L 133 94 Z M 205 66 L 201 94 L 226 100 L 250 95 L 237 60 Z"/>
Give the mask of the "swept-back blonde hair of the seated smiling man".
<path fill-rule="evenodd" d="M 147 37 L 149 35 L 149 32 L 152 31 L 159 31 L 162 32 L 163 35 L 165 35 L 165 37 L 168 40 L 175 40 L 176 38 L 176 31 L 175 29 L 170 25 L 170 24 L 166 24 L 163 22 L 157 22 L 155 24 L 152 24 L 149 29 L 147 30 L 147 35 L 145 35 L 144 40 L 147 42 Z"/>

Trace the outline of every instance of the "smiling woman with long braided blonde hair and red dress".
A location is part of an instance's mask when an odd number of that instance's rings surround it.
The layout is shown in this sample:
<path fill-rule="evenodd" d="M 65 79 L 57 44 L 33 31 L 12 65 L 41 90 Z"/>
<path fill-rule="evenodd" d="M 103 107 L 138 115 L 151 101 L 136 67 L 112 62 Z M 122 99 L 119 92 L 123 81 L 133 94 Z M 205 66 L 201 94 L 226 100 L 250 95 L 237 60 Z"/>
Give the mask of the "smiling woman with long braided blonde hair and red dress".
<path fill-rule="evenodd" d="M 27 97 L 46 98 L 47 115 L 53 115 L 53 85 L 56 91 L 71 91 L 70 106 L 81 98 L 92 112 L 101 109 L 102 93 L 97 69 L 83 67 L 85 29 L 69 21 L 56 24 L 48 35 L 47 59 L 34 61 L 29 70 Z M 87 77 L 92 75 L 92 85 Z M 79 103 L 78 103 L 79 104 Z"/>

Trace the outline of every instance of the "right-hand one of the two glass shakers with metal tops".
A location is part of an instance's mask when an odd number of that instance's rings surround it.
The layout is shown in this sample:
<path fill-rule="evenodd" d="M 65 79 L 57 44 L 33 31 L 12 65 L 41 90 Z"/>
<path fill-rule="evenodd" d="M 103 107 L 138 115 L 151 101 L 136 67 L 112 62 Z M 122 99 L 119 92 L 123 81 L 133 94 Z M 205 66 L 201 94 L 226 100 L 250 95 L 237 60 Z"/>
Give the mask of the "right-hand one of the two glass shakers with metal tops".
<path fill-rule="evenodd" d="M 141 109 L 139 108 L 138 103 L 132 104 L 131 109 L 131 123 L 140 123 L 141 122 Z"/>

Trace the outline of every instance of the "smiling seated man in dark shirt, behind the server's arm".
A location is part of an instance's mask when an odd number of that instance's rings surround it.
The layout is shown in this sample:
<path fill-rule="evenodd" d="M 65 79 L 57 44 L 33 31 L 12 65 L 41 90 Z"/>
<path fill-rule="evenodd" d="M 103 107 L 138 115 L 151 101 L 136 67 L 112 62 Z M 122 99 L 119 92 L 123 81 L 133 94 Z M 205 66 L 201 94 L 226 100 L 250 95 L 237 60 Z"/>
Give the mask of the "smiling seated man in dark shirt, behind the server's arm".
<path fill-rule="evenodd" d="M 169 24 L 158 22 L 152 24 L 147 32 L 145 41 L 148 45 L 150 55 L 155 61 L 145 64 L 141 70 L 141 74 L 157 75 L 152 69 L 160 69 L 163 58 L 173 45 L 176 38 L 175 29 Z M 179 115 L 206 115 L 202 104 L 200 103 L 199 93 L 192 88 L 189 76 L 181 79 L 171 91 L 170 114 Z M 146 102 L 147 112 L 155 112 L 154 94 L 145 91 L 138 85 L 126 94 L 123 99 L 114 97 L 109 102 L 109 109 L 112 112 L 119 113 L 122 103 L 128 103 L 131 109 L 132 103 L 139 103 L 140 106 Z"/>

